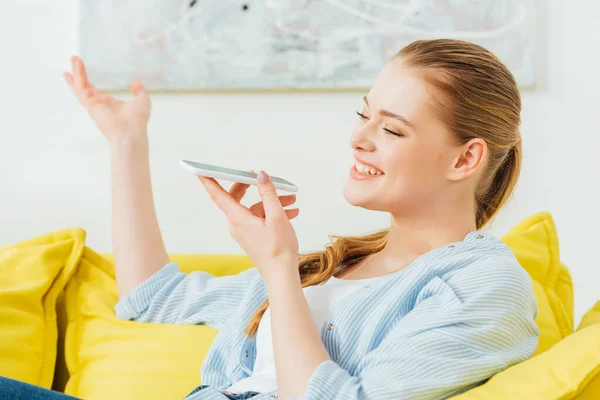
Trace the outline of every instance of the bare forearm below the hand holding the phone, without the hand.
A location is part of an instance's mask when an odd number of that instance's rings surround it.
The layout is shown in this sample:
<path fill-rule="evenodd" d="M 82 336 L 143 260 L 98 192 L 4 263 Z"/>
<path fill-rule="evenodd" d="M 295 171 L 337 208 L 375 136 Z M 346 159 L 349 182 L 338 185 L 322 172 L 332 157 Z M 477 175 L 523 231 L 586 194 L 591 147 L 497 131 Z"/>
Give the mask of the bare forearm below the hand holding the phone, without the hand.
<path fill-rule="evenodd" d="M 293 268 L 281 268 L 293 271 Z M 309 378 L 329 353 L 313 321 L 297 269 L 267 285 L 279 397 L 306 393 Z"/>

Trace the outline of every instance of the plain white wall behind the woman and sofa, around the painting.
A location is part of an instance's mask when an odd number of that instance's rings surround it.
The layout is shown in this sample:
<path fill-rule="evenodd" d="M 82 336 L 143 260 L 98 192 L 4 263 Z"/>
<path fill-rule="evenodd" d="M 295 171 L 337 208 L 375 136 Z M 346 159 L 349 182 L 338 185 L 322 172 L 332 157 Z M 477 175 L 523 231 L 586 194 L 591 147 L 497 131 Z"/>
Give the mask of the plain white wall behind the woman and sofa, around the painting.
<path fill-rule="evenodd" d="M 61 77 L 76 51 L 75 1 L 0 3 L 0 246 L 81 226 L 89 246 L 110 251 L 108 148 Z M 538 3 L 540 84 L 523 93 L 525 165 L 491 231 L 552 212 L 579 319 L 600 299 L 600 3 Z M 383 227 L 385 215 L 354 209 L 342 196 L 360 96 L 155 95 L 151 167 L 169 251 L 241 252 L 199 182 L 178 166 L 182 157 L 263 168 L 298 184 L 302 250 L 321 248 L 328 234 Z"/>

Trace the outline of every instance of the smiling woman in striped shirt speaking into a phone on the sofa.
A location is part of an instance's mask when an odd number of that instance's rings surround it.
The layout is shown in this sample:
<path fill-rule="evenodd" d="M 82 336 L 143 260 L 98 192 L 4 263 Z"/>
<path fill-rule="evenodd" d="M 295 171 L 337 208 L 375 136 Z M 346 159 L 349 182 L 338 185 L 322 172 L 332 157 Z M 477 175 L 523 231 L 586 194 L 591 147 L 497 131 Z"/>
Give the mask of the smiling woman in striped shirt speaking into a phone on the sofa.
<path fill-rule="evenodd" d="M 208 324 L 219 333 L 186 399 L 439 399 L 530 357 L 539 335 L 532 284 L 512 252 L 478 230 L 505 203 L 521 166 L 521 101 L 489 51 L 417 41 L 364 97 L 344 189 L 385 211 L 389 229 L 339 237 L 299 255 L 264 172 L 262 202 L 240 204 L 200 178 L 256 268 L 189 275 L 169 262 L 155 216 L 146 126 L 132 83 L 122 102 L 95 89 L 73 59 L 65 78 L 111 148 L 113 245 L 127 320 Z"/>

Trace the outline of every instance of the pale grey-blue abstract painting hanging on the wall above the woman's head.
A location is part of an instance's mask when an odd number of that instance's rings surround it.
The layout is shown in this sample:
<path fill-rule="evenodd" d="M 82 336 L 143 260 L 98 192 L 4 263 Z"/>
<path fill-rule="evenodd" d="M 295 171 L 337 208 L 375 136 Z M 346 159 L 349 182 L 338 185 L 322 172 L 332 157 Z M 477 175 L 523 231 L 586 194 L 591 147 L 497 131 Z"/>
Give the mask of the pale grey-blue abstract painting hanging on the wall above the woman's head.
<path fill-rule="evenodd" d="M 456 38 L 535 83 L 534 0 L 81 0 L 79 54 L 106 90 L 364 89 L 402 47 Z"/>

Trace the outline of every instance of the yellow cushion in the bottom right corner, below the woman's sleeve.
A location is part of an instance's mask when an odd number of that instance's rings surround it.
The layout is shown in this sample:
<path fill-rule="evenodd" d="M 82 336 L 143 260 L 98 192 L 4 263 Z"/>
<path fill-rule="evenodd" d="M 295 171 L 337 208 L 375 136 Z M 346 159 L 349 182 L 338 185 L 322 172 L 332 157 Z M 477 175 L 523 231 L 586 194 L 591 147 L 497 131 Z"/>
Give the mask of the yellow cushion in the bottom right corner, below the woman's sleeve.
<path fill-rule="evenodd" d="M 495 375 L 453 400 L 600 399 L 600 325 L 563 339 L 550 350 Z"/>

